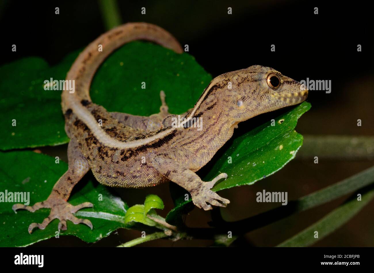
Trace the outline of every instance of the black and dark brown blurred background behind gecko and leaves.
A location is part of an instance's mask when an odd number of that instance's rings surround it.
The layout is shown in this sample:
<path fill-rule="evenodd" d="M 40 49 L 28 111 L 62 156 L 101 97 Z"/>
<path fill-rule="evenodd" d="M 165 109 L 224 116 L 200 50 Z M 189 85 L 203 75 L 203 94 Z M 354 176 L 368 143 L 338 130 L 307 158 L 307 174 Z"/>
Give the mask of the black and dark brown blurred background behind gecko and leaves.
<path fill-rule="evenodd" d="M 332 81 L 332 91 L 310 91 L 312 109 L 298 122 L 305 135 L 374 135 L 373 23 L 362 2 L 347 6 L 325 1 L 119 1 L 122 22 L 150 22 L 171 32 L 189 54 L 213 77 L 251 65 L 270 66 L 295 80 Z M 106 31 L 97 1 L 1 1 L 1 65 L 39 56 L 51 65 L 68 53 L 84 48 Z M 59 15 L 55 15 L 59 7 Z M 141 14 L 146 8 L 146 15 Z M 233 14 L 227 14 L 232 7 Z M 318 7 L 315 15 L 314 7 Z M 10 50 L 16 44 L 17 51 Z M 275 52 L 270 45 L 275 44 Z M 362 52 L 357 45 L 362 45 Z M 362 126 L 357 126 L 357 119 Z M 255 121 L 254 121 L 255 122 Z M 251 126 L 252 123 L 246 123 Z M 56 147 L 66 154 L 66 145 Z M 300 152 L 302 152 L 301 147 Z M 48 149 L 43 150 L 49 153 Z M 55 154 L 55 152 L 53 153 Z M 66 156 L 65 156 L 66 157 Z M 296 157 L 282 170 L 252 186 L 221 192 L 231 200 L 223 210 L 226 220 L 243 219 L 278 206 L 256 203 L 255 193 L 288 191 L 294 200 L 364 170 L 373 160 L 320 160 Z M 162 216 L 173 207 L 168 184 L 152 189 L 119 190 L 129 205 L 143 203 L 147 193 L 165 202 Z M 345 198 L 288 217 L 247 233 L 234 245 L 273 246 L 323 217 Z M 373 201 L 346 225 L 315 246 L 374 246 Z M 207 227 L 209 212 L 195 208 L 188 226 Z M 140 236 L 135 230 L 119 230 L 96 244 L 77 238 L 50 239 L 35 245 L 118 245 Z M 167 240 L 141 246 L 205 246 L 211 241 Z"/>

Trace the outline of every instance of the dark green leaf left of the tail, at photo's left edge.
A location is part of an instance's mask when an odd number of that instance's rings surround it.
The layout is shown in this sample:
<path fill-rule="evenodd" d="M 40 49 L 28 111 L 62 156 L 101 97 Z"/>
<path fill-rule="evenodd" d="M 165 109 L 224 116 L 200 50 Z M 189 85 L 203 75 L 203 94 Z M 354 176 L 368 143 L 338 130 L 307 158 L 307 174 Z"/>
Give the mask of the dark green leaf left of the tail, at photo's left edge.
<path fill-rule="evenodd" d="M 64 79 L 71 65 L 50 68 L 30 57 L 0 67 L 0 149 L 59 145 L 69 141 L 61 112 L 60 91 L 45 91 L 46 79 Z M 16 126 L 12 126 L 15 121 Z"/>

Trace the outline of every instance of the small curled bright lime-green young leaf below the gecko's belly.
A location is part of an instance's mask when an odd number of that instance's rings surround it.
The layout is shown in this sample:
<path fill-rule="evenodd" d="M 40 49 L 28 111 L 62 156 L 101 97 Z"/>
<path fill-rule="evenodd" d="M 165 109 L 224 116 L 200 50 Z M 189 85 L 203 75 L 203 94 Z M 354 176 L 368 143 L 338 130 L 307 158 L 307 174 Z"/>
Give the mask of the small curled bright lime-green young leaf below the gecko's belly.
<path fill-rule="evenodd" d="M 161 198 L 154 194 L 147 195 L 144 205 L 133 205 L 127 210 L 125 223 L 137 222 L 147 226 L 156 226 L 157 223 L 147 217 L 148 214 L 156 216 L 154 208 L 164 208 Z"/>

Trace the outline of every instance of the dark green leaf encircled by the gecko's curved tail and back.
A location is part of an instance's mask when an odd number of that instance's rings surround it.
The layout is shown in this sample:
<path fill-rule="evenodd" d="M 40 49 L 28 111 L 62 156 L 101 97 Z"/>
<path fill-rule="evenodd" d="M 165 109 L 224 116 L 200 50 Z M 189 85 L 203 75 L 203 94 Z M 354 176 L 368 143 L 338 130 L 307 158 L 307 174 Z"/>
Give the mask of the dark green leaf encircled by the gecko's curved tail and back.
<path fill-rule="evenodd" d="M 150 116 L 165 91 L 169 112 L 193 107 L 212 77 L 194 59 L 159 45 L 132 42 L 111 54 L 92 81 L 92 101 L 110 112 Z M 145 82 L 145 89 L 141 89 Z"/>

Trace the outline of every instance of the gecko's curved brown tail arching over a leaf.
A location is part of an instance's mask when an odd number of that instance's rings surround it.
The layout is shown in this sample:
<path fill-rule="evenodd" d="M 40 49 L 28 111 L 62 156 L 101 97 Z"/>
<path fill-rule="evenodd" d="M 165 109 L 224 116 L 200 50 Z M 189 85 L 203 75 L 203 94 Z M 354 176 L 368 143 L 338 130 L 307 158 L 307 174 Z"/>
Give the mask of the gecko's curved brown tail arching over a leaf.
<path fill-rule="evenodd" d="M 111 29 L 89 44 L 71 66 L 66 80 L 75 81 L 75 91 L 62 92 L 62 111 L 65 113 L 82 100 L 91 101 L 90 84 L 101 63 L 121 45 L 135 40 L 148 40 L 177 53 L 183 52 L 181 45 L 169 32 L 150 23 L 126 23 Z M 99 45 L 102 46 L 102 51 L 99 51 Z"/>

